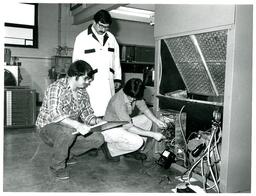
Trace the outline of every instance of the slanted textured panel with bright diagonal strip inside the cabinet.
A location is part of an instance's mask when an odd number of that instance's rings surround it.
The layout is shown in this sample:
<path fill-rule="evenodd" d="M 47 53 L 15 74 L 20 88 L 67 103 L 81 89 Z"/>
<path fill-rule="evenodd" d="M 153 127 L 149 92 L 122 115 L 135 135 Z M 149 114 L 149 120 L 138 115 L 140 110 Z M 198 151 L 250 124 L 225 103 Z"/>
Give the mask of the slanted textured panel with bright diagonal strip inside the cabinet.
<path fill-rule="evenodd" d="M 227 30 L 164 41 L 189 93 L 224 94 Z"/>

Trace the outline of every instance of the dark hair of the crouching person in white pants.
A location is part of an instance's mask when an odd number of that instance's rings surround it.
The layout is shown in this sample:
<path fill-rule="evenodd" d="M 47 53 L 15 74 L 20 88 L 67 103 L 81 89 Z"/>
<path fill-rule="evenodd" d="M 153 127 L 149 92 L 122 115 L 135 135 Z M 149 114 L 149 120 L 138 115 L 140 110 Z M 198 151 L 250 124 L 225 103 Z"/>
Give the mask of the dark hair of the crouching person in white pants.
<path fill-rule="evenodd" d="M 126 95 L 141 100 L 143 98 L 145 86 L 141 79 L 132 78 L 128 80 L 123 88 L 123 91 Z"/>

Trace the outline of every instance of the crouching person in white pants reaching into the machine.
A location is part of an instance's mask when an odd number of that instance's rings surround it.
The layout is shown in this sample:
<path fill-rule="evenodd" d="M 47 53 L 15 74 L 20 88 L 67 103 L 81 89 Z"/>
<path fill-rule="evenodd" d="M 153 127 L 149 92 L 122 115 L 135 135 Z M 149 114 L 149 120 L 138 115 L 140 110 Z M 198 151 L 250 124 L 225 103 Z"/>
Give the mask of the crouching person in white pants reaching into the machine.
<path fill-rule="evenodd" d="M 139 149 L 143 147 L 146 138 L 151 137 L 156 141 L 165 138 L 162 133 L 151 131 L 153 123 L 161 129 L 167 125 L 156 118 L 147 107 L 143 100 L 144 88 L 140 79 L 130 79 L 109 101 L 104 120 L 128 123 L 123 127 L 102 132 L 106 141 L 102 147 L 107 159 L 118 161 L 119 155 L 126 154 L 137 160 L 145 160 L 146 155 L 139 152 Z M 135 108 L 142 114 L 133 116 Z"/>

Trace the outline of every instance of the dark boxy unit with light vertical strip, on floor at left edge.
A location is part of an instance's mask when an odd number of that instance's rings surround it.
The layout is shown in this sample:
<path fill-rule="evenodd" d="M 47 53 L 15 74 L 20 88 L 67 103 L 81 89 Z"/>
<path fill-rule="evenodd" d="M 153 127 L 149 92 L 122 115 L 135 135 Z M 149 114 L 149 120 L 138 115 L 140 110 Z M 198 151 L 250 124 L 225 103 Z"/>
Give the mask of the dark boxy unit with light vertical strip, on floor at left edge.
<path fill-rule="evenodd" d="M 33 127 L 36 120 L 36 91 L 27 87 L 4 89 L 4 126 Z"/>

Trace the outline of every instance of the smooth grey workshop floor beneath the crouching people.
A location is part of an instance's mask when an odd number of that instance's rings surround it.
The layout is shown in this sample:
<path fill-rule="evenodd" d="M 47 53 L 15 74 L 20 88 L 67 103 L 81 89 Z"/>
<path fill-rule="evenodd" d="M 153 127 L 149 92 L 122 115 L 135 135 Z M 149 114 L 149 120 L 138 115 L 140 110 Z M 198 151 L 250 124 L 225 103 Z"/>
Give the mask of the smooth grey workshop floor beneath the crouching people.
<path fill-rule="evenodd" d="M 118 163 L 88 154 L 69 166 L 70 179 L 57 181 L 48 169 L 51 148 L 33 129 L 4 132 L 4 192 L 133 192 L 171 193 L 180 172 L 156 165 L 155 159 L 140 162 L 121 157 Z M 168 180 L 169 178 L 169 180 Z"/>

